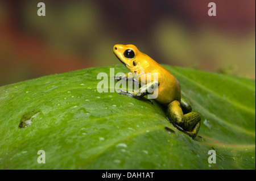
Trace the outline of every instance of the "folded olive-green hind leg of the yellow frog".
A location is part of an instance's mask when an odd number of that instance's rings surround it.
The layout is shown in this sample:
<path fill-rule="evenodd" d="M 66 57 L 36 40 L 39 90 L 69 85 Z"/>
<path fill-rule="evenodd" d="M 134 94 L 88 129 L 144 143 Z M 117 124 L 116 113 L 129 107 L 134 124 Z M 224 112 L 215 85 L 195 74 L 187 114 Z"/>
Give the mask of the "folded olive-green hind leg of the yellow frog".
<path fill-rule="evenodd" d="M 184 100 L 184 99 L 183 99 Z M 183 104 L 184 102 L 181 101 Z M 167 107 L 167 116 L 175 125 L 178 125 L 183 129 L 183 132 L 187 133 L 193 139 L 196 137 L 200 129 L 201 117 L 197 112 L 189 112 L 183 114 L 182 104 L 179 101 L 174 100 Z M 184 105 L 183 105 L 184 106 Z"/>

